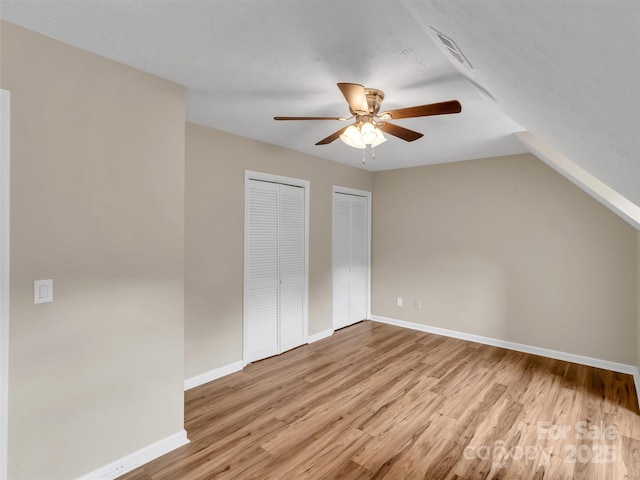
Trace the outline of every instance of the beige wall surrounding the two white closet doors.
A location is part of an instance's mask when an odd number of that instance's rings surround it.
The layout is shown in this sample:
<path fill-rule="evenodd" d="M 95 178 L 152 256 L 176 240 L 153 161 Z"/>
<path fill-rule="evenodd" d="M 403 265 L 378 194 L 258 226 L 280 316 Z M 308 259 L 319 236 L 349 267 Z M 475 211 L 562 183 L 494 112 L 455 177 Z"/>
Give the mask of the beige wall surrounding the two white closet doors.
<path fill-rule="evenodd" d="M 242 360 L 245 170 L 310 181 L 309 334 L 330 329 L 332 186 L 372 174 L 193 124 L 186 152 L 185 378 Z"/>

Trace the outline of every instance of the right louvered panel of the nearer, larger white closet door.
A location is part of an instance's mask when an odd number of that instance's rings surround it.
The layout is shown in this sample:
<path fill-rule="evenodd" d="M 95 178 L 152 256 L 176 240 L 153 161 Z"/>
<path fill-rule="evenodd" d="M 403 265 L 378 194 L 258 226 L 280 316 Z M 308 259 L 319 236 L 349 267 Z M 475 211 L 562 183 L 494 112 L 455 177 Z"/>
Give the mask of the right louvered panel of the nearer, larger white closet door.
<path fill-rule="evenodd" d="M 280 351 L 304 336 L 304 189 L 280 185 Z"/>

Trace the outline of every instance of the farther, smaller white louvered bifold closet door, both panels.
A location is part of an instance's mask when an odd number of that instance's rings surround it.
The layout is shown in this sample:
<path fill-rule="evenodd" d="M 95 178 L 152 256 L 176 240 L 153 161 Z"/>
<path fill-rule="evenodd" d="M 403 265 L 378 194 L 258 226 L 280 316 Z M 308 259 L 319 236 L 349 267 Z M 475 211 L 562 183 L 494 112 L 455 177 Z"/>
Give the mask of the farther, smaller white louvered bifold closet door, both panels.
<path fill-rule="evenodd" d="M 368 198 L 333 195 L 333 328 L 367 318 L 369 269 Z"/>

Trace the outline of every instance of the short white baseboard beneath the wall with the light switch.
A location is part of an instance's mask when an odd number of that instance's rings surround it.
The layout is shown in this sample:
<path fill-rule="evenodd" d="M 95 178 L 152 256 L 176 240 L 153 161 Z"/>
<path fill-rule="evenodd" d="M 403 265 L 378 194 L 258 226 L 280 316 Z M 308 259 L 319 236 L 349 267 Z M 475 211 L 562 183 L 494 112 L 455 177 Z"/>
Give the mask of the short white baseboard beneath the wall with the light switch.
<path fill-rule="evenodd" d="M 187 432 L 185 430 L 181 430 L 174 435 L 163 438 L 162 440 L 122 457 L 115 462 L 111 462 L 104 467 L 98 468 L 93 472 L 89 472 L 78 478 L 78 480 L 114 480 L 119 476 L 164 455 L 165 453 L 169 453 L 178 447 L 186 445 L 187 443 L 189 443 Z"/>

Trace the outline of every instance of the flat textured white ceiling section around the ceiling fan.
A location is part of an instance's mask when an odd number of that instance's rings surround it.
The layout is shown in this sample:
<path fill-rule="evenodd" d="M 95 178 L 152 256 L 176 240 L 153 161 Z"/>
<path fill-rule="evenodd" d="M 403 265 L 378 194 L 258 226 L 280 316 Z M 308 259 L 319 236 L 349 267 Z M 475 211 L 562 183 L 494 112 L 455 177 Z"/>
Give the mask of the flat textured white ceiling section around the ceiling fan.
<path fill-rule="evenodd" d="M 4 19 L 187 88 L 187 119 L 361 166 L 345 124 L 276 115 L 349 116 L 337 82 L 386 94 L 383 109 L 458 99 L 459 115 L 400 120 L 424 133 L 389 138 L 379 170 L 524 151 L 521 128 L 483 99 L 398 2 L 3 1 Z"/>

